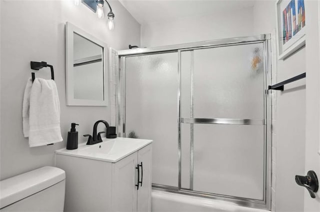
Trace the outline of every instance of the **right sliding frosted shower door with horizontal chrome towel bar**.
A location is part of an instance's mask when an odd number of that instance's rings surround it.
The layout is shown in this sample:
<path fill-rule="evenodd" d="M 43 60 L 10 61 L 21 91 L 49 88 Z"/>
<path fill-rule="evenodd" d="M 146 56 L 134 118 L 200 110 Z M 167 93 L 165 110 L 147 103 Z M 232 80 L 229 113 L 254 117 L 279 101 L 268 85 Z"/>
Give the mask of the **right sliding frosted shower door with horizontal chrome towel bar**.
<path fill-rule="evenodd" d="M 181 51 L 181 187 L 263 200 L 261 43 Z"/>

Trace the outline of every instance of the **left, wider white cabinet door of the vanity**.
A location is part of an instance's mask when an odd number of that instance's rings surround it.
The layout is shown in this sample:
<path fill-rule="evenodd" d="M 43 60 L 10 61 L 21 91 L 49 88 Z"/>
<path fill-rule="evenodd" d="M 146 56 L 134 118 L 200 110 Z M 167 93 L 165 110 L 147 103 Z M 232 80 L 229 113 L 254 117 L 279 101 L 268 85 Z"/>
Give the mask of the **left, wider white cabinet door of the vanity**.
<path fill-rule="evenodd" d="M 112 212 L 136 212 L 137 152 L 112 164 Z"/>

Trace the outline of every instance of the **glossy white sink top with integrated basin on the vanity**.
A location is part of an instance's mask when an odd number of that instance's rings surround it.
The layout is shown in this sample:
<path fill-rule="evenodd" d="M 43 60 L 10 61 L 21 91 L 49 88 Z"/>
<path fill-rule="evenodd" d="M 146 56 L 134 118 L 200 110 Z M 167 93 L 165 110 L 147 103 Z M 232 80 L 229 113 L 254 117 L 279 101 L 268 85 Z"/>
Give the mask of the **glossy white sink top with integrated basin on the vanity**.
<path fill-rule="evenodd" d="M 107 161 L 115 163 L 122 158 L 134 153 L 135 151 L 152 143 L 152 140 L 132 139 L 132 138 L 115 138 L 102 139 L 102 142 L 94 145 L 80 144 L 78 149 L 56 150 L 56 154 L 69 155 L 80 158 Z"/>

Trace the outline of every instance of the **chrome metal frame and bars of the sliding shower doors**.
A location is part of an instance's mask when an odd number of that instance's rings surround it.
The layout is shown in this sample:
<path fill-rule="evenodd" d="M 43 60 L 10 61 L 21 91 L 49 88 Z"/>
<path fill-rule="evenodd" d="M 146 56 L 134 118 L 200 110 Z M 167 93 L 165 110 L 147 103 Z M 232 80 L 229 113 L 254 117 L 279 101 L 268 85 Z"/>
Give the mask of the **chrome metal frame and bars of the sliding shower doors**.
<path fill-rule="evenodd" d="M 262 43 L 263 44 L 263 83 L 264 83 L 264 119 L 263 120 L 252 120 L 252 119 L 197 119 L 193 118 L 192 104 L 193 98 L 191 95 L 190 104 L 190 118 L 182 118 L 180 114 L 181 109 L 181 51 L 192 51 L 194 49 L 203 48 L 214 48 L 214 47 L 224 47 L 233 45 L 243 45 L 252 43 Z M 178 91 L 177 91 L 177 128 L 178 128 L 178 187 L 166 186 L 152 184 L 153 189 L 163 190 L 167 192 L 192 195 L 197 197 L 205 197 L 210 199 L 224 200 L 232 202 L 239 206 L 245 206 L 250 208 L 267 209 L 270 210 L 271 207 L 271 98 L 267 93 L 267 85 L 271 84 L 271 52 L 270 52 L 270 35 L 261 34 L 258 36 L 249 37 L 236 37 L 236 38 L 226 38 L 202 42 L 193 42 L 186 44 L 153 47 L 153 48 L 138 48 L 117 51 L 116 63 L 118 64 L 118 82 L 117 82 L 117 111 L 116 111 L 116 126 L 118 128 L 118 136 L 125 137 L 125 58 L 130 56 L 139 55 L 149 55 L 149 54 L 159 54 L 159 53 L 169 53 L 177 52 L 178 58 L 178 70 L 177 70 L 177 80 L 178 80 Z M 192 80 L 192 72 L 191 72 Z M 192 83 L 191 83 L 192 92 Z M 264 174 L 263 174 L 263 200 L 254 200 L 248 198 L 231 197 L 219 194 L 211 194 L 204 192 L 192 191 L 193 186 L 193 159 L 192 151 L 190 151 L 190 190 L 181 188 L 181 138 L 180 138 L 180 125 L 181 123 L 190 123 L 190 131 L 192 132 L 194 123 L 208 123 L 208 124 L 241 124 L 241 125 L 264 125 Z M 192 150 L 192 136 L 190 139 L 190 149 Z"/>

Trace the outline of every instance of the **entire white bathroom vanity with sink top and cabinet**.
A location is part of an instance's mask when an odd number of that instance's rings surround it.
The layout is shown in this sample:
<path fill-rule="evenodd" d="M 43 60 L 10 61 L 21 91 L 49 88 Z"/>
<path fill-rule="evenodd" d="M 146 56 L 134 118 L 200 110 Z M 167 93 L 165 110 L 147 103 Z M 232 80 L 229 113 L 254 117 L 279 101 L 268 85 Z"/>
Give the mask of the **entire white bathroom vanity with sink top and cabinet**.
<path fill-rule="evenodd" d="M 103 139 L 55 151 L 66 174 L 67 212 L 150 212 L 151 140 Z"/>

